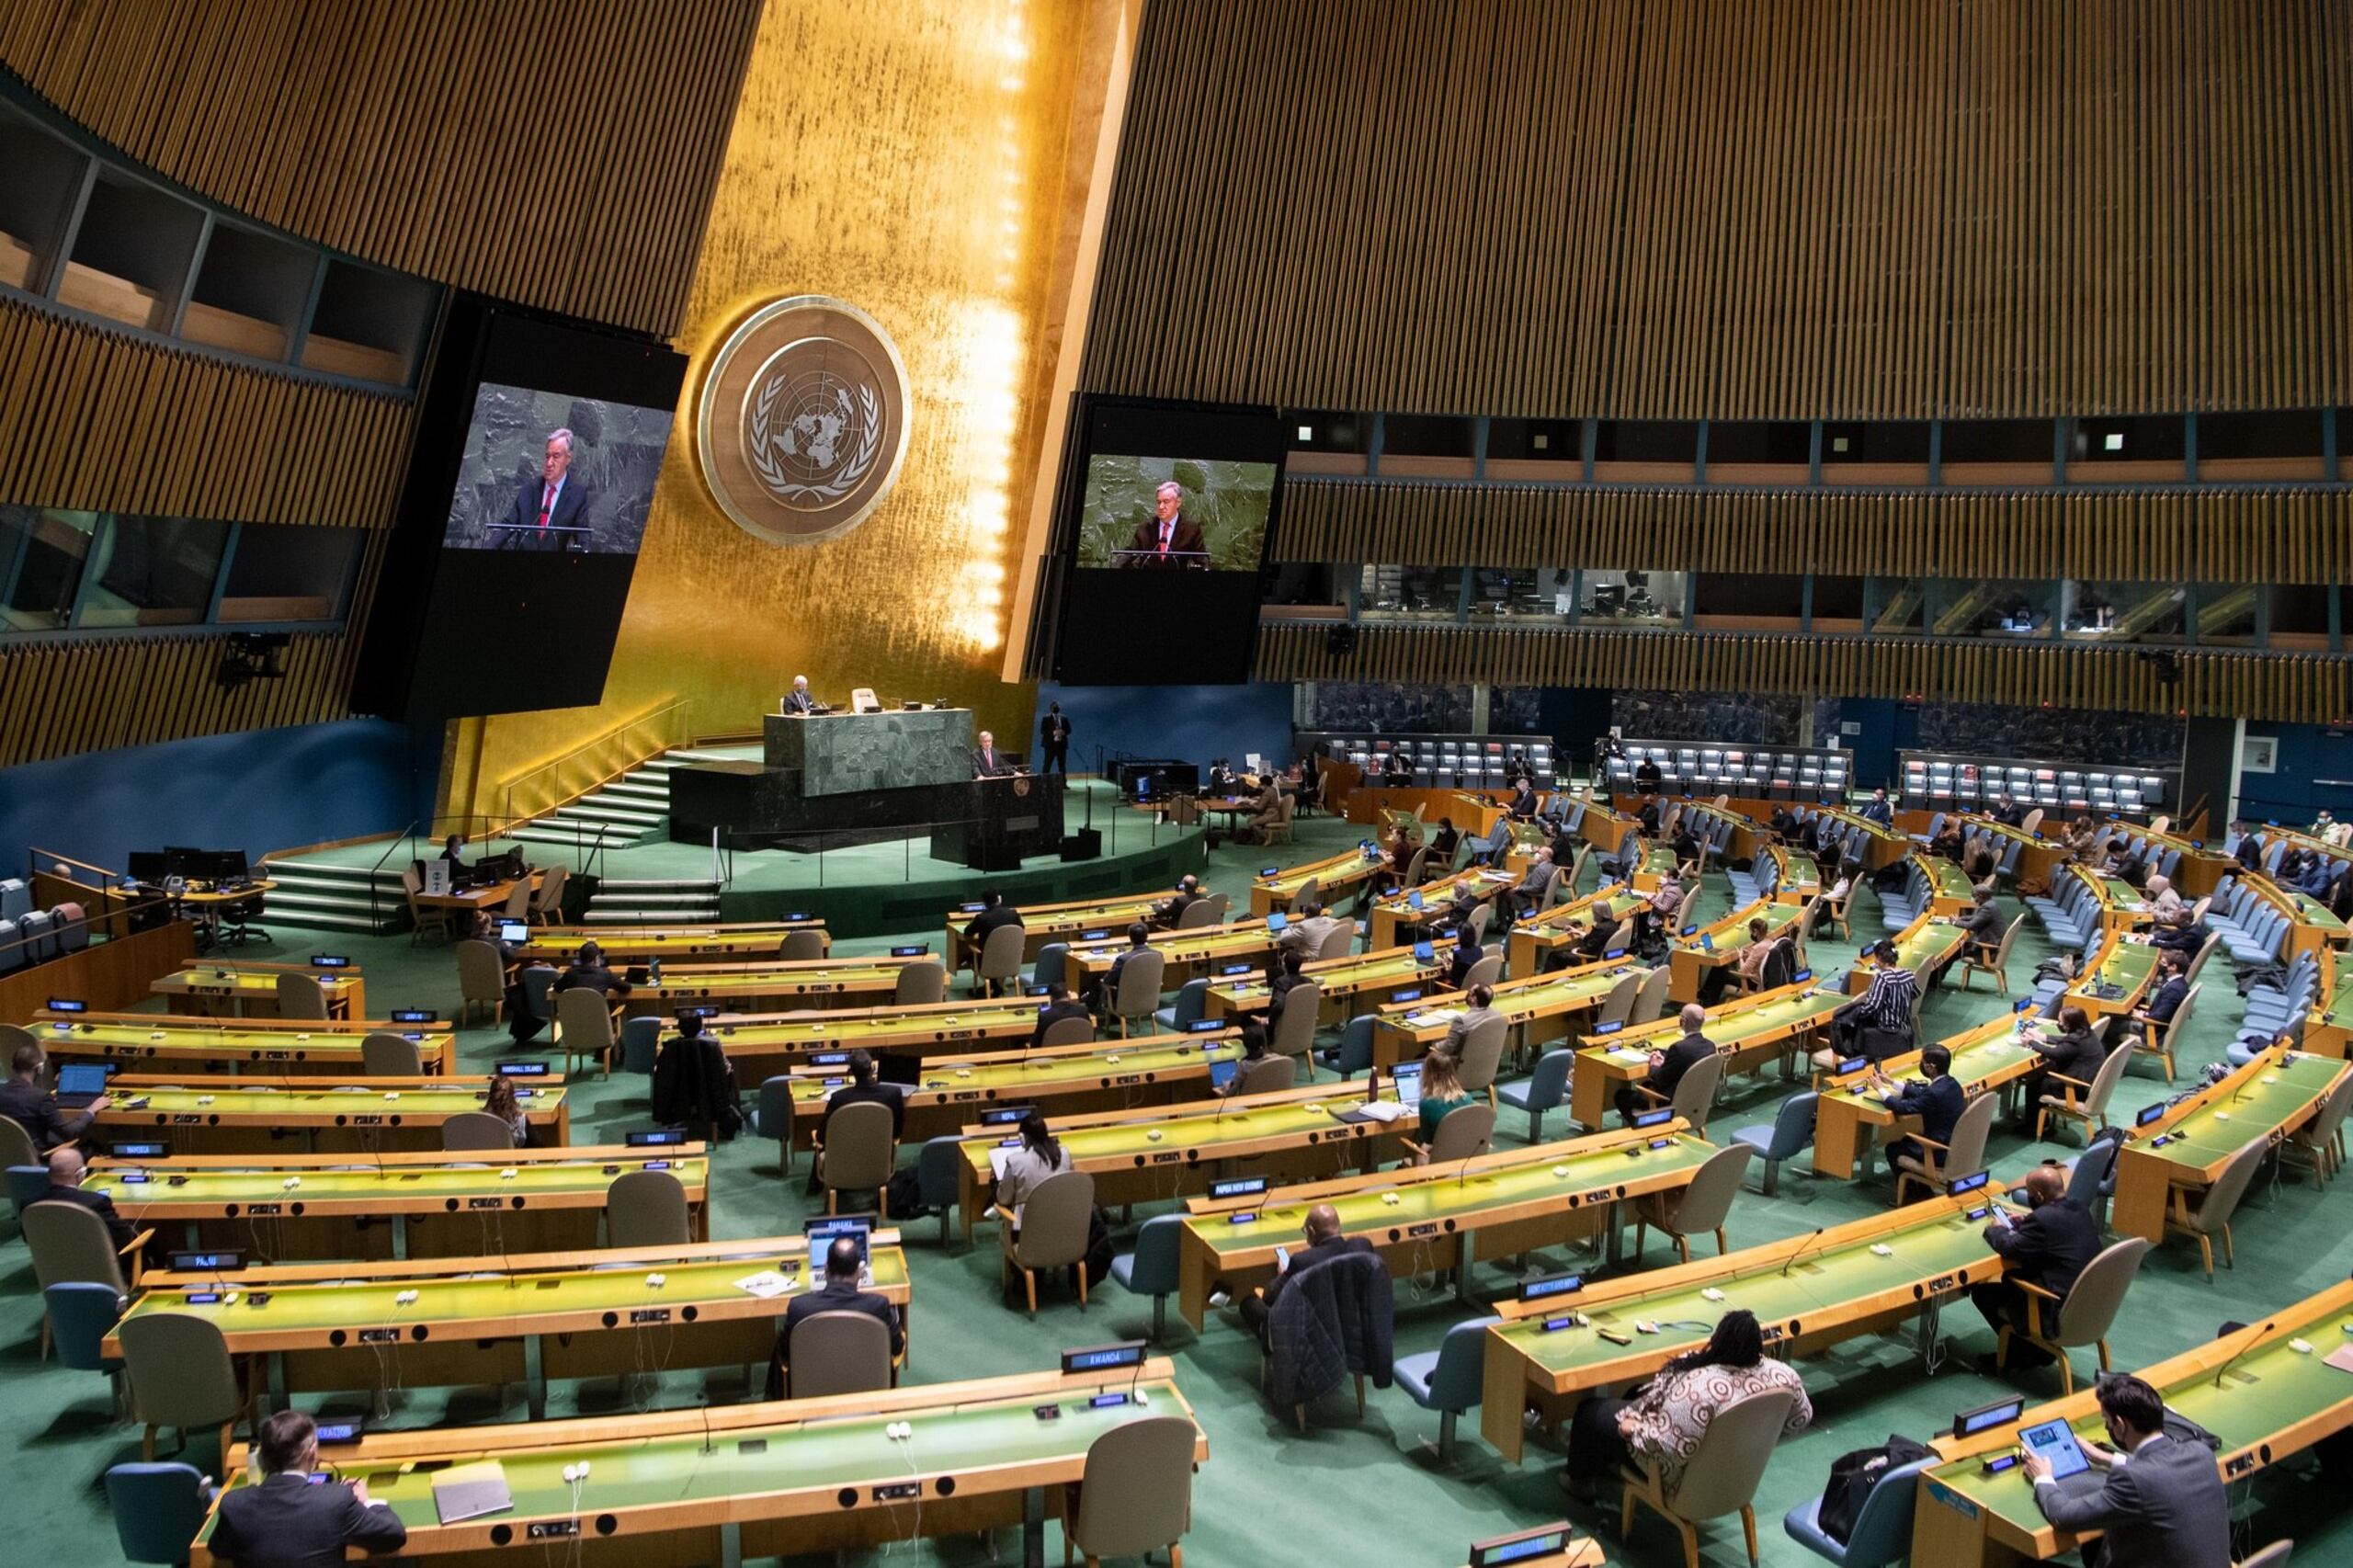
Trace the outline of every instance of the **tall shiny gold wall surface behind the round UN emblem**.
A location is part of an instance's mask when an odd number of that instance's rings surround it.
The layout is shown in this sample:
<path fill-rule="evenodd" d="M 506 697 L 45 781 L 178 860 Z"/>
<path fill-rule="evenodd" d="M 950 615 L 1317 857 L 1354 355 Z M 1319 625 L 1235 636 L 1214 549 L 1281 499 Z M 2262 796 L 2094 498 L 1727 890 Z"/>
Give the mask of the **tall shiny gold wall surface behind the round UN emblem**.
<path fill-rule="evenodd" d="M 466 720 L 445 810 L 499 810 L 504 784 L 673 697 L 692 727 L 755 727 L 795 673 L 845 702 L 939 697 L 1007 744 L 1028 687 L 1000 685 L 1012 518 L 1068 278 L 1071 146 L 1092 120 L 1082 47 L 1111 0 L 772 5 L 753 40 L 687 301 L 694 356 L 638 577 L 598 709 Z M 1078 195 L 1085 188 L 1078 186 Z M 1059 261 L 1059 266 L 1056 266 Z M 692 410 L 725 334 L 779 294 L 875 315 L 913 391 L 906 466 L 854 532 L 753 539 L 694 473 Z M 518 800 L 518 805 L 534 805 Z"/>

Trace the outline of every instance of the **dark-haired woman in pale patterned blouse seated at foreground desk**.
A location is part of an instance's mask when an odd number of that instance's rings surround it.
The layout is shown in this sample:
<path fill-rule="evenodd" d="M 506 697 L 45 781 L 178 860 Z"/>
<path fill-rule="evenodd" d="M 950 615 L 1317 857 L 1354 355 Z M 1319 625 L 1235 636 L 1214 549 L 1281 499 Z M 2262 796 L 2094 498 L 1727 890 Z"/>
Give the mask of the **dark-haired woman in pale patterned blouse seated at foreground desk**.
<path fill-rule="evenodd" d="M 1593 1396 L 1577 1406 L 1569 1417 L 1569 1467 L 1560 1483 L 1586 1493 L 1624 1462 L 1657 1462 L 1673 1493 L 1715 1413 L 1769 1389 L 1798 1396 L 1784 1431 L 1814 1420 L 1798 1373 L 1765 1358 L 1755 1314 L 1727 1311 L 1706 1344 L 1668 1361 L 1633 1398 Z"/>

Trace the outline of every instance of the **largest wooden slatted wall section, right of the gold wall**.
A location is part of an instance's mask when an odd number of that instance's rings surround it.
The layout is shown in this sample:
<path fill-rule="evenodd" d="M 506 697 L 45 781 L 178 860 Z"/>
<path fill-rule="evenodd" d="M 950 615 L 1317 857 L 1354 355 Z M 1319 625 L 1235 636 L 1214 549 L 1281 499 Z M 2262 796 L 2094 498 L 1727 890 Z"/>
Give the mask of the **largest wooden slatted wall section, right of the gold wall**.
<path fill-rule="evenodd" d="M 2353 400 L 2341 0 L 1148 0 L 1082 379 L 1287 407 Z"/>

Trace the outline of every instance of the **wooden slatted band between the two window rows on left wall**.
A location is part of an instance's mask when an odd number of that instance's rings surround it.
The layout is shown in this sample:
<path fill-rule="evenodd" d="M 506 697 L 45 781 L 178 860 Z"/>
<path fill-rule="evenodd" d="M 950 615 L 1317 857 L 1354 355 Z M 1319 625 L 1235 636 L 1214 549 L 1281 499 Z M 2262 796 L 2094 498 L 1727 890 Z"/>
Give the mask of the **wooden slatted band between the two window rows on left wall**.
<path fill-rule="evenodd" d="M 0 299 L 0 497 L 391 527 L 412 405 Z"/>

